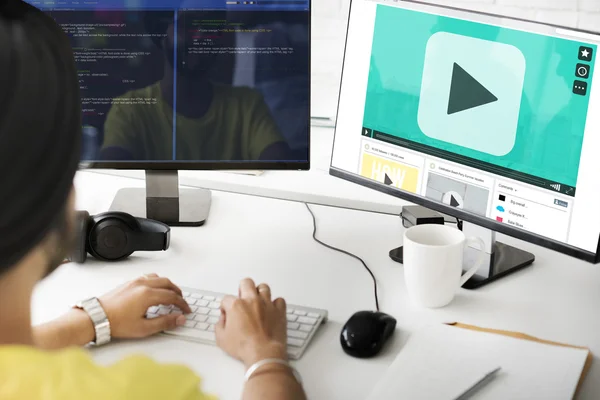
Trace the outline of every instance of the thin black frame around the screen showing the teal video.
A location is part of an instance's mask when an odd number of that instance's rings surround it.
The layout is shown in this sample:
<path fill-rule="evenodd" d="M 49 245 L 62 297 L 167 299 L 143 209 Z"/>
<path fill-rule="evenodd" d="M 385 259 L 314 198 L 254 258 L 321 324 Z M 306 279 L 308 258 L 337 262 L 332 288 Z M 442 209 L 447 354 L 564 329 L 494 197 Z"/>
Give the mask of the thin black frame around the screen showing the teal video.
<path fill-rule="evenodd" d="M 352 4 L 354 1 L 369 1 L 369 2 L 373 2 L 373 3 L 377 3 L 379 5 L 390 6 L 390 7 L 394 7 L 394 6 L 399 7 L 399 5 L 395 5 L 395 3 L 383 3 L 381 1 L 372 1 L 372 0 L 350 0 L 350 8 L 349 8 L 349 12 L 348 12 L 348 23 L 347 23 L 347 28 L 346 28 L 346 39 L 345 39 L 345 43 L 344 43 L 344 59 L 343 59 L 343 63 L 342 63 L 342 74 L 341 74 L 341 79 L 340 79 L 340 90 L 339 90 L 339 95 L 338 95 L 338 106 L 337 106 L 337 111 L 336 111 L 336 121 L 338 120 L 339 113 L 340 113 L 342 84 L 344 82 L 344 66 L 346 63 L 346 52 L 348 49 L 348 33 L 349 33 L 349 29 L 350 29 L 350 19 L 352 16 Z M 437 5 L 437 4 L 431 4 L 431 3 L 426 3 L 426 2 L 422 2 L 422 1 L 414 1 L 414 0 L 403 0 L 402 3 L 411 3 L 411 4 L 423 5 L 423 6 L 432 7 L 432 8 L 455 10 L 455 11 L 461 11 L 461 12 L 475 14 L 475 15 L 486 15 L 486 16 L 495 17 L 495 18 L 503 18 L 503 19 L 510 19 L 510 20 L 514 20 L 514 21 L 533 23 L 533 24 L 542 25 L 542 26 L 546 26 L 546 27 L 567 29 L 567 30 L 570 30 L 573 32 L 598 35 L 598 32 L 586 31 L 586 30 L 582 30 L 582 29 L 576 29 L 576 28 L 565 27 L 565 26 L 554 25 L 554 24 L 546 24 L 546 23 L 530 21 L 530 20 L 522 19 L 522 18 L 508 17 L 508 16 L 504 16 L 504 15 L 467 10 L 467 9 L 463 9 L 463 8 L 459 8 L 459 7 Z M 332 146 L 331 161 L 330 161 L 330 166 L 329 166 L 329 174 L 331 176 L 334 176 L 334 177 L 340 178 L 340 179 L 344 179 L 344 180 L 352 182 L 352 183 L 356 183 L 358 185 L 367 187 L 369 189 L 377 190 L 379 192 L 400 198 L 402 200 L 409 201 L 416 205 L 427 207 L 431 210 L 438 211 L 438 212 L 456 217 L 459 220 L 469 222 L 472 224 L 476 224 L 478 226 L 490 229 L 495 232 L 502 233 L 504 235 L 507 235 L 507 236 L 510 236 L 510 237 L 513 237 L 516 239 L 520 239 L 520 240 L 532 243 L 534 245 L 546 247 L 550 250 L 554 250 L 559 253 L 562 253 L 562 254 L 565 254 L 565 255 L 568 255 L 568 256 L 583 260 L 583 261 L 587 261 L 587 262 L 594 263 L 594 264 L 600 263 L 600 234 L 598 235 L 598 245 L 596 248 L 596 253 L 592 253 L 591 251 L 587 251 L 587 250 L 581 249 L 579 247 L 571 246 L 564 242 L 560 242 L 560 241 L 557 241 L 554 239 L 549 239 L 547 237 L 537 235 L 532 232 L 514 228 L 514 227 L 511 227 L 506 224 L 498 223 L 488 217 L 483 217 L 483 216 L 476 215 L 476 214 L 473 214 L 470 212 L 461 211 L 455 207 L 451 207 L 451 206 L 445 205 L 443 203 L 439 203 L 439 202 L 430 200 L 424 196 L 416 195 L 416 194 L 413 194 L 413 193 L 410 193 L 410 192 L 407 192 L 407 191 L 404 191 L 401 189 L 391 188 L 391 187 L 385 186 L 379 182 L 375 182 L 375 181 L 369 180 L 367 178 L 364 178 L 358 174 L 354 174 L 354 173 L 342 170 L 340 168 L 336 168 L 333 166 L 333 153 L 335 151 L 335 139 L 336 139 L 337 133 L 338 132 L 337 132 L 337 125 L 336 125 L 334 134 L 333 134 L 333 146 Z"/>

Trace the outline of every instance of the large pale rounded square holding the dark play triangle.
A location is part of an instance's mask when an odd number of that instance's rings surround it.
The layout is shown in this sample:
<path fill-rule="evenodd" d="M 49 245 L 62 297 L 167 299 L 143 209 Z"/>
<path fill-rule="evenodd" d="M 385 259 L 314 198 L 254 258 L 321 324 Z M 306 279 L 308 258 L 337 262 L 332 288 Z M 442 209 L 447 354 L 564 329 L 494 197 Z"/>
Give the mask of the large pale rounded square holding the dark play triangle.
<path fill-rule="evenodd" d="M 515 46 L 433 34 L 421 82 L 421 131 L 493 156 L 510 153 L 517 138 L 525 69 L 525 57 Z"/>

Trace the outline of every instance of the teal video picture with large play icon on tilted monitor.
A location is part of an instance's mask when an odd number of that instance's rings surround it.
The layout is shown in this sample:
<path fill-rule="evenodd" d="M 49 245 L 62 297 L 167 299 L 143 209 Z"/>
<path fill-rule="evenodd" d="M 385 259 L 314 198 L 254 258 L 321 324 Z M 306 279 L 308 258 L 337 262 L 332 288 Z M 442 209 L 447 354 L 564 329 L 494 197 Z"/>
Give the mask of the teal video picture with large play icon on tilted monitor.
<path fill-rule="evenodd" d="M 392 39 L 399 37 L 411 40 Z M 469 158 L 478 169 L 576 188 L 591 89 L 577 87 L 594 72 L 594 48 L 587 63 L 579 59 L 585 50 L 572 40 L 382 6 L 363 125 L 424 153 Z"/>

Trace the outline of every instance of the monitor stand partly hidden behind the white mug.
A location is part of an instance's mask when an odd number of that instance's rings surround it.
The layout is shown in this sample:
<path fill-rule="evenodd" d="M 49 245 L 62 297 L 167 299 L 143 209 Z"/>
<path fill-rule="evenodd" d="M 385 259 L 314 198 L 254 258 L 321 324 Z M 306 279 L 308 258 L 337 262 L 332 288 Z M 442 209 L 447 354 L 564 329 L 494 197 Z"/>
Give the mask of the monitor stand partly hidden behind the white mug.
<path fill-rule="evenodd" d="M 479 270 L 464 285 L 464 289 L 477 289 L 517 272 L 531 264 L 535 256 L 525 250 L 496 241 L 496 232 L 478 225 L 463 222 L 462 231 L 465 236 L 476 236 L 485 244 L 486 259 Z M 465 249 L 465 265 L 473 265 L 479 256 L 479 249 Z M 390 251 L 390 257 L 402 263 L 402 247 Z"/>

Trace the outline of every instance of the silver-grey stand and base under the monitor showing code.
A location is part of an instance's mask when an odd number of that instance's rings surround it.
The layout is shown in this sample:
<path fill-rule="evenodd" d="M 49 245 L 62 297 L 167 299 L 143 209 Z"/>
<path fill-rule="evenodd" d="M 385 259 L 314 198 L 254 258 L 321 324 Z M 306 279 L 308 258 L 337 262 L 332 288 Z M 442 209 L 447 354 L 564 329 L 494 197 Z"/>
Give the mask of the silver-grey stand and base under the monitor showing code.
<path fill-rule="evenodd" d="M 117 192 L 110 211 L 122 211 L 170 226 L 202 226 L 208 219 L 211 192 L 180 189 L 177 171 L 146 171 L 146 188 Z"/>

